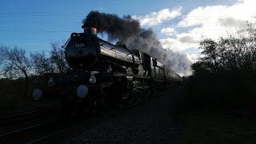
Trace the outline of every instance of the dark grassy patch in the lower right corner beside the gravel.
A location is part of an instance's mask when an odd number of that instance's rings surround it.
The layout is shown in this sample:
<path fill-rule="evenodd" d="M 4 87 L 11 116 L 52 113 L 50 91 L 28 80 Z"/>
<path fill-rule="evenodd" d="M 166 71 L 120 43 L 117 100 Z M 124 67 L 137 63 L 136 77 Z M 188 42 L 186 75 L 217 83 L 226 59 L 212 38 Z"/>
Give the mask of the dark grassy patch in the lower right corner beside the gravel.
<path fill-rule="evenodd" d="M 224 114 L 190 114 L 180 143 L 256 143 L 256 118 Z"/>

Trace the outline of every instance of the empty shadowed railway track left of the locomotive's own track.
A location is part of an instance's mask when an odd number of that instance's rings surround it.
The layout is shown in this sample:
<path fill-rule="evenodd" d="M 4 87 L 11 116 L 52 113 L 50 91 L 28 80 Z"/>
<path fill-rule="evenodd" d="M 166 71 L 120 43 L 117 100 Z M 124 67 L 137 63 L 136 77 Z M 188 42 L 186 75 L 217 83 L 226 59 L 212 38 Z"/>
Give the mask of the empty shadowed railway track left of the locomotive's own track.
<path fill-rule="evenodd" d="M 53 110 L 33 110 L 0 118 L 0 143 L 22 143 L 22 134 L 55 122 L 53 115 Z"/>

